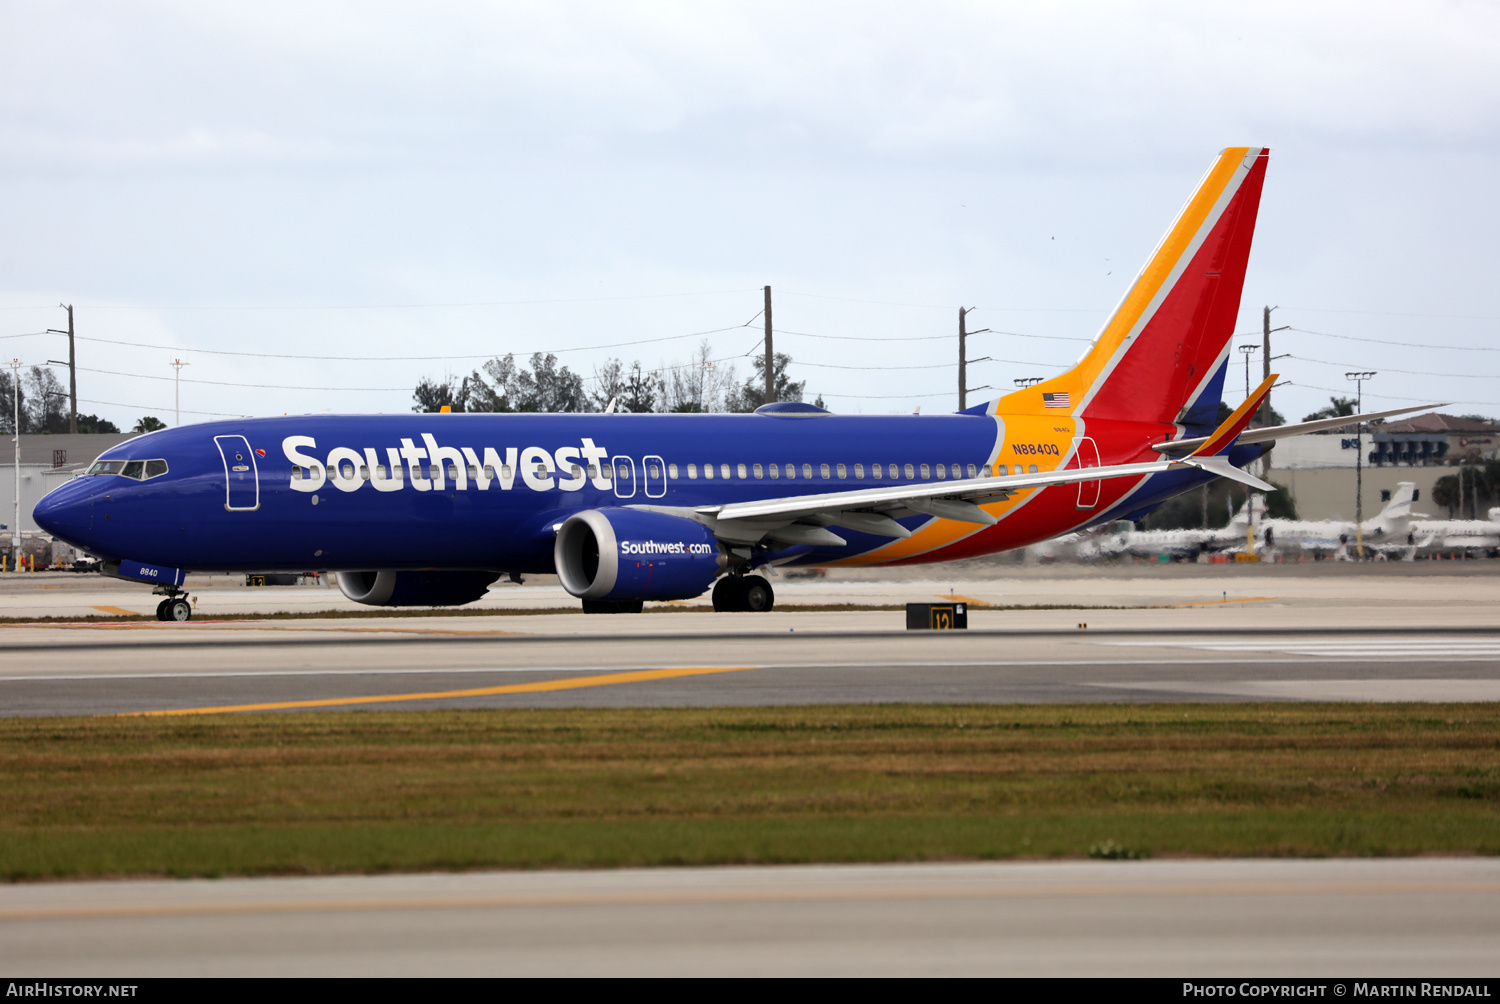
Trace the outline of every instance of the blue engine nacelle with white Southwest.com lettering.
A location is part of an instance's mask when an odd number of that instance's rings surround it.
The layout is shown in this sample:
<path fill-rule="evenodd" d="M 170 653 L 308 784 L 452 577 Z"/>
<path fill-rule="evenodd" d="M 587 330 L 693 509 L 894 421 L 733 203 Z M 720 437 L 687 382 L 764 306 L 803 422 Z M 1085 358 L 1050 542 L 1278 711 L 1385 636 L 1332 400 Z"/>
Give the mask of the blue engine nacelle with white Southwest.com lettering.
<path fill-rule="evenodd" d="M 724 566 L 708 527 L 615 507 L 568 516 L 552 558 L 562 588 L 584 600 L 686 600 L 702 596 Z"/>

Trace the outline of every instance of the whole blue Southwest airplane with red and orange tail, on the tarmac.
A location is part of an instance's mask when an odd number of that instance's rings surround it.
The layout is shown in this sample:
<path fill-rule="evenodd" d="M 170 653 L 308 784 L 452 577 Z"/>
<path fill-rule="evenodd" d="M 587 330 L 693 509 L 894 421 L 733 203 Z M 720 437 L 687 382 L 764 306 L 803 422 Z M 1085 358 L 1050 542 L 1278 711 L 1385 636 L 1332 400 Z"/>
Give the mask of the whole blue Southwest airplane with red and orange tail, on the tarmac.
<path fill-rule="evenodd" d="M 468 603 L 555 572 L 586 612 L 700 596 L 765 611 L 758 569 L 914 564 L 1138 519 L 1286 435 L 1216 422 L 1266 150 L 1209 168 L 1078 363 L 951 416 L 404 414 L 243 419 L 108 450 L 36 522 L 165 596 L 189 570 L 338 573 L 376 606 Z M 1376 413 L 1398 414 L 1414 411 Z"/>

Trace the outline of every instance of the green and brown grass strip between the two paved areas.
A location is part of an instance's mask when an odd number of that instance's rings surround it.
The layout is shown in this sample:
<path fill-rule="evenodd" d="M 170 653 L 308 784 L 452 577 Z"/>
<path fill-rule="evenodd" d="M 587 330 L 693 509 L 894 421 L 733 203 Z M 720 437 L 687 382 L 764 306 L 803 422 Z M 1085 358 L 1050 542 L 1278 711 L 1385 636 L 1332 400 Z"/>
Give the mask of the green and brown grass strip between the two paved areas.
<path fill-rule="evenodd" d="M 1500 852 L 1500 705 L 0 720 L 0 875 Z"/>

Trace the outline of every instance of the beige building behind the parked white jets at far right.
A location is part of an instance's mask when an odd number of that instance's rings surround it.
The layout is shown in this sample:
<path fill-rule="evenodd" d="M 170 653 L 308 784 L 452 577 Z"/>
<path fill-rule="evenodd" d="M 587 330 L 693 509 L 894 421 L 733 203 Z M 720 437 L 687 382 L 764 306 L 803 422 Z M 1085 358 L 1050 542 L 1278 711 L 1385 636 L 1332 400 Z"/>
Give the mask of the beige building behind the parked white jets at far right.
<path fill-rule="evenodd" d="M 1500 453 L 1500 426 L 1450 414 L 1366 426 L 1364 438 L 1364 515 L 1370 519 L 1400 482 L 1418 489 L 1418 512 L 1446 519 L 1430 500 L 1438 477 L 1460 462 L 1482 464 Z M 1360 440 L 1348 432 L 1299 435 L 1276 443 L 1268 480 L 1286 485 L 1302 519 L 1354 518 L 1354 458 Z"/>

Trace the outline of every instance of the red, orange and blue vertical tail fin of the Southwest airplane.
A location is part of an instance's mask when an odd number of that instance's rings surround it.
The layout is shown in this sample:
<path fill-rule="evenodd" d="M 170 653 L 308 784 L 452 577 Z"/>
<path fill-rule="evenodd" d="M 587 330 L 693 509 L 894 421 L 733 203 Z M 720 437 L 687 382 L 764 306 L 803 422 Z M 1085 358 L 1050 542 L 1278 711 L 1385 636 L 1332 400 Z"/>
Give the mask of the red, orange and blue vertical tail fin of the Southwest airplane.
<path fill-rule="evenodd" d="M 992 410 L 1214 426 L 1268 156 L 1220 153 L 1078 363 Z"/>

